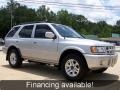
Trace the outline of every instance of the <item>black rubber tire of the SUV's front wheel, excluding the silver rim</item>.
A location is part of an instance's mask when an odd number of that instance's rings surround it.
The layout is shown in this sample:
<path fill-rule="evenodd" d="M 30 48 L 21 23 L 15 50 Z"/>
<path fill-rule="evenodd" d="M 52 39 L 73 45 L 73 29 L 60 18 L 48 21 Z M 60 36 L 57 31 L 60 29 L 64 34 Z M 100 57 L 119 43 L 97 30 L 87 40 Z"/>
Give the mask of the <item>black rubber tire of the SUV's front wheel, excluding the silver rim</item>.
<path fill-rule="evenodd" d="M 66 65 L 66 62 L 70 59 L 74 59 L 75 61 L 78 62 L 79 64 L 79 67 L 80 67 L 80 70 L 79 70 L 79 73 L 74 76 L 74 77 L 71 77 L 70 75 L 67 74 L 66 70 L 65 70 L 65 65 Z M 85 62 L 83 60 L 82 57 L 80 57 L 79 55 L 77 54 L 69 54 L 67 55 L 66 57 L 63 58 L 62 60 L 62 64 L 61 64 L 61 70 L 62 70 L 62 73 L 64 75 L 64 77 L 70 81 L 79 81 L 79 80 L 82 80 L 83 77 L 86 75 L 87 73 L 87 67 L 85 66 Z"/>

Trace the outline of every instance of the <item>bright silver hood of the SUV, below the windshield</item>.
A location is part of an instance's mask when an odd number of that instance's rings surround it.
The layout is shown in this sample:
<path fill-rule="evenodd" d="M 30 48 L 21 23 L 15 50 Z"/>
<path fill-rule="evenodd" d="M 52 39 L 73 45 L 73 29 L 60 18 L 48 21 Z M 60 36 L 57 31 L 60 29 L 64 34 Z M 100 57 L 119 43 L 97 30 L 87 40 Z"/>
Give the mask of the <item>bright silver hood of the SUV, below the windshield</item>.
<path fill-rule="evenodd" d="M 82 44 L 82 45 L 90 45 L 90 46 L 114 46 L 113 44 L 97 41 L 97 40 L 90 40 L 90 39 L 81 39 L 81 38 L 66 38 L 68 41 L 71 41 L 74 44 Z"/>

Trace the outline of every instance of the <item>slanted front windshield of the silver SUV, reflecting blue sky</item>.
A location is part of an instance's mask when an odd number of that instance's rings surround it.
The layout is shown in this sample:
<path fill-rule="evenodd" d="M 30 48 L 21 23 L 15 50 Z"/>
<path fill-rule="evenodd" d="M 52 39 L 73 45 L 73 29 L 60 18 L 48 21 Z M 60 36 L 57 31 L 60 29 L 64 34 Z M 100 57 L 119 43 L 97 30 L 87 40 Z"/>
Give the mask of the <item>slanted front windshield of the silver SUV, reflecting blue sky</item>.
<path fill-rule="evenodd" d="M 62 37 L 68 38 L 84 38 L 82 35 L 78 34 L 72 28 L 61 25 L 61 24 L 52 24 L 52 26 L 58 31 Z"/>

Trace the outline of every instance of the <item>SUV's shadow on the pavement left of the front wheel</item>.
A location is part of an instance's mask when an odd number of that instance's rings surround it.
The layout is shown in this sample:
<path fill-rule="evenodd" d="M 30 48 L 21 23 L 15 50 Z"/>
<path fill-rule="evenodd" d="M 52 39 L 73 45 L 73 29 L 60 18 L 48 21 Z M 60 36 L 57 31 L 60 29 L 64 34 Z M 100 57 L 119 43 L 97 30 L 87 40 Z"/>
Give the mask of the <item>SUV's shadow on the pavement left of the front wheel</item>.
<path fill-rule="evenodd" d="M 5 68 L 13 69 L 9 65 L 2 65 Z M 42 77 L 46 77 L 46 80 L 64 80 L 62 73 L 55 67 L 49 65 L 41 65 L 39 63 L 23 63 L 21 68 L 14 69 Z M 38 79 L 41 80 L 41 79 Z"/>

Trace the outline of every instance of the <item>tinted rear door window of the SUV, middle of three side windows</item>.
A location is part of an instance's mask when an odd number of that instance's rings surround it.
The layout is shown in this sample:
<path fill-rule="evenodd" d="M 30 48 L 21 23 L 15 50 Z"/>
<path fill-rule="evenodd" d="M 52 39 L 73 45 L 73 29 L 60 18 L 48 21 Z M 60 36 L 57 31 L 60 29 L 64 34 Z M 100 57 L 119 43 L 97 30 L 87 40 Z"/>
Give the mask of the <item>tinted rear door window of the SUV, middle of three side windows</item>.
<path fill-rule="evenodd" d="M 24 26 L 19 33 L 21 38 L 31 38 L 34 25 Z"/>

